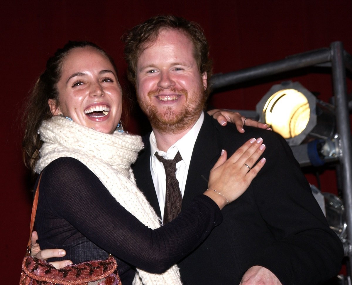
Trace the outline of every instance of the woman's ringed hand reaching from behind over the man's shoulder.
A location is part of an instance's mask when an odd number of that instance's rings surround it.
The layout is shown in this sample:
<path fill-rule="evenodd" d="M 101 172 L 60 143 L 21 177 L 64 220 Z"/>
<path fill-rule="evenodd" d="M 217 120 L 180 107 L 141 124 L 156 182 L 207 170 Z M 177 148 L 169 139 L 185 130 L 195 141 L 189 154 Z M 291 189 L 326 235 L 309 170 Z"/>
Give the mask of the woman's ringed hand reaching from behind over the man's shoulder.
<path fill-rule="evenodd" d="M 271 130 L 271 128 L 269 128 L 267 124 L 259 123 L 257 121 L 254 121 L 251 118 L 246 118 L 244 116 L 241 116 L 241 114 L 237 112 L 214 109 L 214 110 L 208 111 L 207 113 L 210 116 L 213 116 L 214 119 L 218 120 L 221 126 L 226 126 L 227 122 L 233 123 L 240 133 L 244 133 L 244 128 L 243 128 L 244 125 Z"/>

